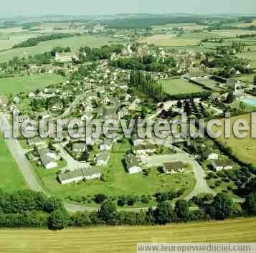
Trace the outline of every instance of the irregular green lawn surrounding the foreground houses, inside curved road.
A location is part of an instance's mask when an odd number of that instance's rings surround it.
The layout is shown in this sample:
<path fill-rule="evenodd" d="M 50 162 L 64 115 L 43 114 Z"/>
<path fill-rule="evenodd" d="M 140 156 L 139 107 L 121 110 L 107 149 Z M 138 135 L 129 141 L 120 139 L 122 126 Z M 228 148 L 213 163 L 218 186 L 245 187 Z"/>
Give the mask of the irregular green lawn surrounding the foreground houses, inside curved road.
<path fill-rule="evenodd" d="M 56 180 L 57 170 L 46 171 L 38 168 L 37 173 L 42 178 L 44 186 L 54 195 L 68 196 L 94 196 L 105 194 L 107 196 L 120 196 L 121 194 L 141 196 L 143 194 L 155 194 L 157 191 L 178 191 L 186 189 L 184 195 L 192 191 L 195 184 L 194 174 L 162 175 L 156 168 L 152 168 L 149 176 L 143 173 L 129 175 L 125 172 L 122 160 L 125 153 L 131 149 L 128 140 L 117 143 L 107 168 L 100 168 L 106 181 L 87 181 L 82 183 L 70 183 L 61 185 Z"/>

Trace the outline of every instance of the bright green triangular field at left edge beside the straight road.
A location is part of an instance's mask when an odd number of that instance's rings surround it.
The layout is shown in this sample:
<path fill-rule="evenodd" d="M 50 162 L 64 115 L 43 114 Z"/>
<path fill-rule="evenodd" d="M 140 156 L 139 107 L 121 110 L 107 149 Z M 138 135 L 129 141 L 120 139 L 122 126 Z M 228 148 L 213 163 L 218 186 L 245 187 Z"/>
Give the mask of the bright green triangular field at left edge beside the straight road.
<path fill-rule="evenodd" d="M 16 191 L 27 188 L 22 173 L 19 171 L 18 165 L 11 152 L 4 142 L 4 138 L 0 135 L 0 188 L 4 191 Z"/>

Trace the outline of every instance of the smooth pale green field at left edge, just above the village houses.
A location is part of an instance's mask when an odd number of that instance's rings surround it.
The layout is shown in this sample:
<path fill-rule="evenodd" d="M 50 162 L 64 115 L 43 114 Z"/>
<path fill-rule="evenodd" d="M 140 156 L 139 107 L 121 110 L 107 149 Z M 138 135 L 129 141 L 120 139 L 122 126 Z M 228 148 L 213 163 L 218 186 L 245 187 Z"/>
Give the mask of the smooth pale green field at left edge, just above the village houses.
<path fill-rule="evenodd" d="M 0 79 L 0 93 L 9 95 L 10 93 L 27 92 L 37 90 L 37 88 L 54 85 L 65 80 L 61 75 L 29 75 L 24 77 L 7 77 Z"/>

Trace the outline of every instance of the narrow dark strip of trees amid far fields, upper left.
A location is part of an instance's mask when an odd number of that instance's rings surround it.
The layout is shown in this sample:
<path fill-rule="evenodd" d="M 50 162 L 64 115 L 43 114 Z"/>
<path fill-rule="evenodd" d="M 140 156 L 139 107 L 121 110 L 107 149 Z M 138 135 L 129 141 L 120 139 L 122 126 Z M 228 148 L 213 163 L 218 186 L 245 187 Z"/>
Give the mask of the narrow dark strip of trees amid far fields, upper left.
<path fill-rule="evenodd" d="M 49 35 L 42 35 L 39 37 L 29 38 L 25 40 L 24 42 L 21 42 L 19 44 L 15 44 L 13 48 L 18 47 L 34 47 L 37 46 L 40 42 L 46 42 L 48 40 L 54 40 L 54 39 L 63 39 L 68 37 L 73 37 L 73 34 L 49 34 Z"/>

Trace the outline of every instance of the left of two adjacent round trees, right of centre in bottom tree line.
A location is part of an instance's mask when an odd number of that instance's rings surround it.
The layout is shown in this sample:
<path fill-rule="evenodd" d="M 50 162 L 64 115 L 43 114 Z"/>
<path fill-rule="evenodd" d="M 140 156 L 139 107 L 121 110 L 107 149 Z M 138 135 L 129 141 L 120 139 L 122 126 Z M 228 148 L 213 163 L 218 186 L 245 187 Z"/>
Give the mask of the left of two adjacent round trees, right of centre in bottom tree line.
<path fill-rule="evenodd" d="M 158 204 L 154 211 L 154 217 L 158 224 L 166 224 L 174 221 L 175 213 L 171 201 L 163 201 Z"/>

